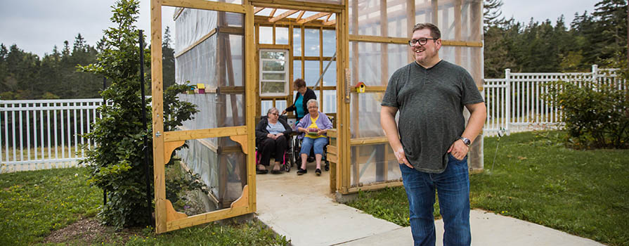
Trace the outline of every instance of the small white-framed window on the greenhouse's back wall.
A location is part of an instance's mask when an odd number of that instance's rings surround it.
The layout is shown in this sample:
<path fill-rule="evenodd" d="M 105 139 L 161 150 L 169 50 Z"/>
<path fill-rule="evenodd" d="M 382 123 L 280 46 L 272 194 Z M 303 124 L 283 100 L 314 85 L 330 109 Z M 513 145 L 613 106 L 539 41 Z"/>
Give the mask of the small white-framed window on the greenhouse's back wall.
<path fill-rule="evenodd" d="M 288 50 L 260 50 L 260 96 L 288 95 Z"/>

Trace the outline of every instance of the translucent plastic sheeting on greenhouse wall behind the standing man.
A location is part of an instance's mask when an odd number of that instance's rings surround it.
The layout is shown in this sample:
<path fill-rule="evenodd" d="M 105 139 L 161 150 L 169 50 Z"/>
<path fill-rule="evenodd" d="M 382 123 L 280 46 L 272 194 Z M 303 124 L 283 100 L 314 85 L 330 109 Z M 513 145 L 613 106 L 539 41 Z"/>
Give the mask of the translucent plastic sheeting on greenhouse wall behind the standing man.
<path fill-rule="evenodd" d="M 349 0 L 349 34 L 377 37 L 410 37 L 408 1 Z M 416 0 L 414 23 L 436 23 L 442 40 L 482 41 L 481 0 Z M 386 15 L 386 17 L 384 16 Z M 412 15 L 411 15 L 412 16 Z M 407 44 L 382 44 L 351 41 L 349 68 L 352 83 L 386 86 L 393 73 L 414 60 Z M 441 46 L 439 56 L 464 67 L 482 84 L 483 48 Z M 385 64 L 383 64 L 385 63 Z M 352 93 L 350 104 L 351 138 L 383 137 L 380 126 L 380 103 L 384 93 Z M 365 185 L 400 178 L 396 158 L 388 144 L 351 147 L 351 185 Z M 386 170 L 386 171 L 385 171 Z"/>

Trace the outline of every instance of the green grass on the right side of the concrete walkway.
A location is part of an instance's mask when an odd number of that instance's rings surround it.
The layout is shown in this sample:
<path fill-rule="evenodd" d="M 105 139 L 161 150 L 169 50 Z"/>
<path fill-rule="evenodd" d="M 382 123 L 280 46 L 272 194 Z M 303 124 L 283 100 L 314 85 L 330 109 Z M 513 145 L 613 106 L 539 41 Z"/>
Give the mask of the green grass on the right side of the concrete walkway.
<path fill-rule="evenodd" d="M 560 134 L 511 134 L 500 139 L 497 155 L 498 138 L 484 138 L 486 171 L 470 176 L 472 207 L 629 245 L 629 150 L 572 150 L 560 143 Z M 349 205 L 408 226 L 401 187 L 362 193 Z"/>

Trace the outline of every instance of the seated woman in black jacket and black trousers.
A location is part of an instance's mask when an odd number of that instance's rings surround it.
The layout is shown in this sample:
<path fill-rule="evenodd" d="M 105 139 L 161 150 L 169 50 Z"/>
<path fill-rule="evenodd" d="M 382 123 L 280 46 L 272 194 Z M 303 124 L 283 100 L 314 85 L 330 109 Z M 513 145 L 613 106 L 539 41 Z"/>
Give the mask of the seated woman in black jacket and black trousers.
<path fill-rule="evenodd" d="M 266 118 L 262 117 L 256 127 L 256 145 L 261 153 L 260 162 L 256 167 L 257 174 L 266 174 L 266 166 L 274 154 L 275 165 L 271 169 L 272 174 L 280 174 L 280 164 L 284 159 L 284 153 L 288 147 L 288 136 L 292 129 L 285 121 L 280 119 L 280 111 L 273 107 L 266 112 Z"/>

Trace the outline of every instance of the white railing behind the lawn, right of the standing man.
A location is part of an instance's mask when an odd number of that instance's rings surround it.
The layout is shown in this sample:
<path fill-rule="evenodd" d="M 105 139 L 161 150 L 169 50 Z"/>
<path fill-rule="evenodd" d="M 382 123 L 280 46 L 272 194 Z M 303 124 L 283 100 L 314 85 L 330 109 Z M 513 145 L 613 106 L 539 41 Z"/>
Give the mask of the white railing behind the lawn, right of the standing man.
<path fill-rule="evenodd" d="M 627 83 L 618 82 L 614 70 L 599 70 L 597 65 L 592 65 L 592 72 L 512 73 L 507 69 L 503 79 L 484 79 L 483 96 L 487 106 L 484 135 L 495 135 L 500 129 L 508 134 L 562 127 L 561 110 L 543 99 L 550 82 L 559 80 L 579 86 L 583 82 L 615 83 L 617 89 L 627 89 Z"/>

